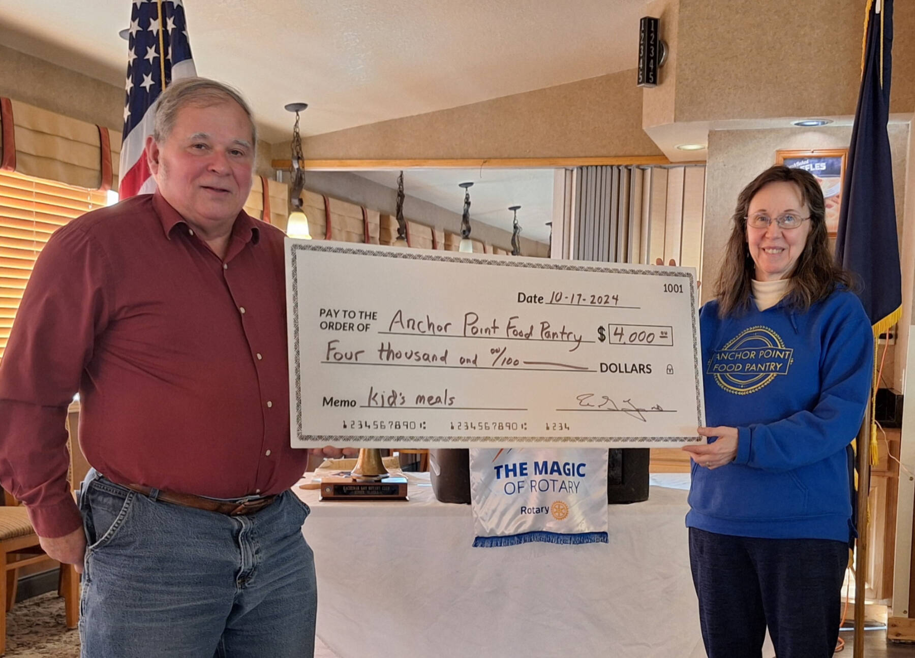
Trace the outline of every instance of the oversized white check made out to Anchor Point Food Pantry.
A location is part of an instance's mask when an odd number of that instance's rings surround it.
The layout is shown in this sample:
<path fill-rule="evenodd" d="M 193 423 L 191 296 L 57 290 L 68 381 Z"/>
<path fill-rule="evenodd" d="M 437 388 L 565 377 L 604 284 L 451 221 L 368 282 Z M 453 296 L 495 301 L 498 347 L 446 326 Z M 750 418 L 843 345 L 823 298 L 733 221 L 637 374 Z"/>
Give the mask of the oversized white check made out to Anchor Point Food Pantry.
<path fill-rule="evenodd" d="M 296 448 L 701 442 L 691 268 L 286 241 Z"/>

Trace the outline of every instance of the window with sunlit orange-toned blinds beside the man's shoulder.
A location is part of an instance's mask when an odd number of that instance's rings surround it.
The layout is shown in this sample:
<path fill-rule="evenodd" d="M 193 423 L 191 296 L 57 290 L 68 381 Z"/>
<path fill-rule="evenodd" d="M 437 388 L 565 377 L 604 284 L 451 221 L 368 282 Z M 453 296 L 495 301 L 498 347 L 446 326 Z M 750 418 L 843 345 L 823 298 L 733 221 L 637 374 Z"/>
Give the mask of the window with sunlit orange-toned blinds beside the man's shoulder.
<path fill-rule="evenodd" d="M 51 233 L 115 201 L 112 192 L 0 171 L 0 359 L 32 267 Z"/>

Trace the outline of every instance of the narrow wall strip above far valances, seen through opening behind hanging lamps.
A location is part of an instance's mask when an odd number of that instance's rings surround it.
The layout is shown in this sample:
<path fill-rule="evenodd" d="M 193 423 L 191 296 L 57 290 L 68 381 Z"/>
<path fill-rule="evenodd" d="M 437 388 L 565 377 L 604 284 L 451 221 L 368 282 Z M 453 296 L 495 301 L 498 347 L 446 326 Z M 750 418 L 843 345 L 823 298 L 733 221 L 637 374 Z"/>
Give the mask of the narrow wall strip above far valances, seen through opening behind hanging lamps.
<path fill-rule="evenodd" d="M 395 214 L 397 210 L 397 190 L 386 188 L 350 172 L 309 171 L 305 187 L 318 194 L 327 194 L 328 197 L 350 201 L 389 215 Z M 457 212 L 445 210 L 409 195 L 404 199 L 404 216 L 408 220 L 418 221 L 443 231 L 457 233 L 460 230 L 461 216 Z M 470 235 L 476 240 L 511 251 L 511 232 L 473 220 L 470 221 L 470 227 Z M 545 257 L 548 250 L 548 244 L 521 238 L 521 251 L 525 256 Z"/>

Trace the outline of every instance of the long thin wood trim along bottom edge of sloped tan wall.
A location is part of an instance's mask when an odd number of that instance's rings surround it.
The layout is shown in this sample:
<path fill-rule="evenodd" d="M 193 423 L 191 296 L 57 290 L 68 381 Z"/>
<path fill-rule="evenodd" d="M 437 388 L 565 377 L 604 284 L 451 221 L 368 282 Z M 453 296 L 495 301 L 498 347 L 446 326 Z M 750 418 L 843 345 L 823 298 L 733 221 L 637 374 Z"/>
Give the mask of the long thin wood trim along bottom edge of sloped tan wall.
<path fill-rule="evenodd" d="M 274 169 L 289 169 L 291 159 L 271 161 Z M 608 165 L 672 165 L 665 156 L 614 156 L 614 157 L 492 157 L 463 159 L 416 160 L 302 160 L 305 169 L 321 171 L 348 171 L 352 169 L 415 169 L 415 168 L 556 168 L 599 167 Z"/>

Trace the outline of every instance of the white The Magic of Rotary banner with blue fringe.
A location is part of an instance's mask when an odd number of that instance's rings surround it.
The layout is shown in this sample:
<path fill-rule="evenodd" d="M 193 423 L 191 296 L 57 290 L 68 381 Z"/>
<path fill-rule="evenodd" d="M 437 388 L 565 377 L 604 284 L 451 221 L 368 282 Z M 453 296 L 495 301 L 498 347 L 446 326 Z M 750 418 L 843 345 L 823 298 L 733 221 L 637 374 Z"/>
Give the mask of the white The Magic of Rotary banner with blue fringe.
<path fill-rule="evenodd" d="M 471 448 L 475 546 L 607 543 L 604 448 Z"/>

